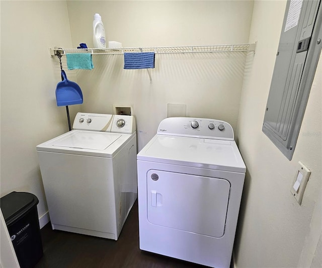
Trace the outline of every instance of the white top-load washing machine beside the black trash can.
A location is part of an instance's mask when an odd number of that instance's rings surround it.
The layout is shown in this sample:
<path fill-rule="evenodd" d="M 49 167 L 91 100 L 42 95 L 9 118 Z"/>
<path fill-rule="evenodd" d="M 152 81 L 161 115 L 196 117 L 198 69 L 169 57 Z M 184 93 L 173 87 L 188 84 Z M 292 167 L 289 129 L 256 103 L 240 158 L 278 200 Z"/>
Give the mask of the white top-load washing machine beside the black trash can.
<path fill-rule="evenodd" d="M 117 240 L 137 198 L 134 117 L 77 113 L 37 153 L 52 228 Z"/>

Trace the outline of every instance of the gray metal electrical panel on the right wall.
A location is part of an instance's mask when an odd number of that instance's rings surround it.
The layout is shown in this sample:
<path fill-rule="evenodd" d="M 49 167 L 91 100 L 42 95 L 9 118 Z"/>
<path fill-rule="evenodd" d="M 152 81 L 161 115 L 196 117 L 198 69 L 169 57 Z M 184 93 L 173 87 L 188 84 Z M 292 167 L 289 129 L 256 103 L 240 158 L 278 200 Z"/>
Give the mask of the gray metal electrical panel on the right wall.
<path fill-rule="evenodd" d="M 289 160 L 321 51 L 320 6 L 321 0 L 288 0 L 286 5 L 263 132 Z"/>

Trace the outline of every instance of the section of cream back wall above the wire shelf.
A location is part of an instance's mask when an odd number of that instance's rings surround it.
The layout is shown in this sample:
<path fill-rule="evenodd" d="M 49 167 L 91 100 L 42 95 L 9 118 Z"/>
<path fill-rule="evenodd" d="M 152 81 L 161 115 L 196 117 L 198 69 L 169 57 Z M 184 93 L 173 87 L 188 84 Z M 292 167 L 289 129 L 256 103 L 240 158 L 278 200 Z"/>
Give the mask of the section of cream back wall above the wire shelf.
<path fill-rule="evenodd" d="M 247 43 L 253 1 L 68 1 L 73 47 L 93 47 L 94 14 L 124 47 Z"/>

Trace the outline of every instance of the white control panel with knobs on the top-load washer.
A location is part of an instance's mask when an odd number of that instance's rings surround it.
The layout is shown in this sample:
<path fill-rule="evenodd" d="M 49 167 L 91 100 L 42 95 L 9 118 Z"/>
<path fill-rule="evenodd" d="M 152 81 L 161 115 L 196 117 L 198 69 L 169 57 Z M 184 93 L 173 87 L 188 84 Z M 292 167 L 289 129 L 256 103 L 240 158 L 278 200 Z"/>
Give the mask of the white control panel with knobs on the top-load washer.
<path fill-rule="evenodd" d="M 73 129 L 132 134 L 135 118 L 127 115 L 77 113 Z"/>

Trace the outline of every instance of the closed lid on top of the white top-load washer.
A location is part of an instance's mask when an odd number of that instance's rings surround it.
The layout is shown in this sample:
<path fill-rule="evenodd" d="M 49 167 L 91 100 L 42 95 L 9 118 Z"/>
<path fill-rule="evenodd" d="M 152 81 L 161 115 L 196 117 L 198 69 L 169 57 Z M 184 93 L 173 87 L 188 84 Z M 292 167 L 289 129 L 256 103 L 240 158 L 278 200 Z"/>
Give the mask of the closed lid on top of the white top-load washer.
<path fill-rule="evenodd" d="M 102 132 L 79 131 L 57 140 L 52 145 L 78 149 L 104 150 L 120 137 L 121 135 L 119 134 L 109 133 L 106 135 Z"/>

